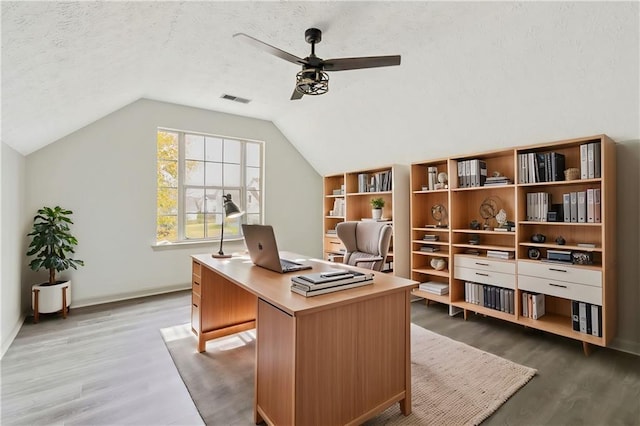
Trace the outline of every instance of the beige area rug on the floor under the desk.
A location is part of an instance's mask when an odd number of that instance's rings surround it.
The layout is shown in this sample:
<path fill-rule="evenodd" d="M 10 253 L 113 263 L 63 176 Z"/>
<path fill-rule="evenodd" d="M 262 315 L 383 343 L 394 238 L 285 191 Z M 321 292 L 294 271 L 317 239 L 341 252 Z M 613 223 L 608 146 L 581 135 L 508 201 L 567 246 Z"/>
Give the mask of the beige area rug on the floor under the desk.
<path fill-rule="evenodd" d="M 160 332 L 206 424 L 253 424 L 254 330 L 211 340 L 202 354 L 189 324 Z M 366 425 L 477 425 L 535 374 L 411 324 L 412 413 L 394 404 Z"/>

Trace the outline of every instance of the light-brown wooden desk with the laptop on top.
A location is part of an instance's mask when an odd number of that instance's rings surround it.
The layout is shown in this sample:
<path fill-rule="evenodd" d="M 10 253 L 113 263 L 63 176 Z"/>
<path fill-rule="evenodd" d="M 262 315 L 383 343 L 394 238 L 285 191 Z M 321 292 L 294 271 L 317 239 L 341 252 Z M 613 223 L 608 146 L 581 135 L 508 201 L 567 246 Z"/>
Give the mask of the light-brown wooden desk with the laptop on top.
<path fill-rule="evenodd" d="M 256 423 L 357 425 L 396 402 L 411 413 L 416 281 L 375 273 L 372 285 L 306 298 L 291 292 L 292 274 L 254 266 L 248 257 L 192 258 L 198 351 L 207 340 L 257 325 Z M 313 269 L 301 273 L 340 267 L 304 262 Z"/>

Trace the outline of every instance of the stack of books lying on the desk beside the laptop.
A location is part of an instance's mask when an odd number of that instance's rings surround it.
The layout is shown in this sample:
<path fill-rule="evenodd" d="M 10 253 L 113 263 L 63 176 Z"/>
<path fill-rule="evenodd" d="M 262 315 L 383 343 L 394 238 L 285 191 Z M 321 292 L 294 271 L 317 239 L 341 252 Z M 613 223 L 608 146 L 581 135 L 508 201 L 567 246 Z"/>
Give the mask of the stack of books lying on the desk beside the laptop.
<path fill-rule="evenodd" d="M 305 297 L 373 284 L 373 273 L 334 269 L 291 277 L 291 291 Z"/>

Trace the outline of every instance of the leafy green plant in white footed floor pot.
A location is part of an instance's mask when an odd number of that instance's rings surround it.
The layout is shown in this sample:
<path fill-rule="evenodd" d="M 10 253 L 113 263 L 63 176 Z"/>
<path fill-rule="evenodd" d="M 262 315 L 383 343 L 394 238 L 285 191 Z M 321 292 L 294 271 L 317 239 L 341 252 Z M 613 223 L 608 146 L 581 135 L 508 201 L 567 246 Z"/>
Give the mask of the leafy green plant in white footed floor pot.
<path fill-rule="evenodd" d="M 27 234 L 31 237 L 31 244 L 27 256 L 35 256 L 29 263 L 34 271 L 47 269 L 49 281 L 32 286 L 32 307 L 34 321 L 38 321 L 40 313 L 51 313 L 62 310 L 66 318 L 67 308 L 71 304 L 71 281 L 57 281 L 56 272 L 62 272 L 69 268 L 78 269 L 84 262 L 69 257 L 74 253 L 74 246 L 78 240 L 71 234 L 69 225 L 73 224 L 69 216 L 71 210 L 60 206 L 54 208 L 43 207 L 33 218 L 32 231 Z"/>

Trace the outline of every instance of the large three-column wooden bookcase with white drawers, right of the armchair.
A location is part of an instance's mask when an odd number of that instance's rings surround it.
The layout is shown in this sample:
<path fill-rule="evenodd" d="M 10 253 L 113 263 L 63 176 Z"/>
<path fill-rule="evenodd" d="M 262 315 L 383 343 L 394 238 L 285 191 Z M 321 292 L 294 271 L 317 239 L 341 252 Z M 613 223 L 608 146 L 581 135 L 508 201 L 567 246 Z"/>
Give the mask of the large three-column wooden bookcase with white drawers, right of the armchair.
<path fill-rule="evenodd" d="M 615 143 L 606 135 L 596 135 L 413 163 L 410 194 L 412 278 L 419 281 L 435 278 L 449 286 L 447 295 L 426 294 L 424 297 L 448 304 L 451 315 L 461 309 L 465 318 L 467 311 L 476 312 L 581 341 L 585 352 L 589 344 L 607 346 L 615 336 L 617 320 L 615 156 Z M 447 188 L 425 190 L 430 168 L 448 175 Z M 578 169 L 578 178 L 564 180 L 567 169 Z M 574 193 L 575 206 L 571 205 Z M 430 217 L 434 205 L 445 207 L 449 228 L 425 227 L 436 223 Z M 584 210 L 576 212 L 571 211 L 572 208 Z M 493 230 L 499 225 L 496 216 L 500 209 L 504 210 L 506 220 L 512 223 L 514 230 Z M 555 213 L 555 218 L 548 212 Z M 570 214 L 565 216 L 565 212 Z M 555 221 L 551 221 L 553 219 Z M 482 229 L 470 229 L 474 221 Z M 439 241 L 424 241 L 425 234 L 438 235 Z M 534 234 L 544 235 L 546 243 L 532 242 Z M 556 244 L 557 239 L 564 240 L 565 244 Z M 594 247 L 583 247 L 580 243 Z M 419 251 L 422 245 L 436 244 L 439 252 Z M 507 256 L 513 258 L 498 260 L 494 256 L 501 253 L 487 256 L 488 251 L 507 252 Z M 569 263 L 569 267 L 564 268 L 566 275 L 554 276 L 556 272 L 552 270 L 563 268 L 552 268 L 553 263 L 533 260 L 538 259 L 534 256 L 546 259 L 550 253 L 560 254 L 557 251 L 571 252 L 572 256 L 579 252 L 581 259 L 586 258 L 591 264 Z M 488 266 L 457 265 L 456 262 L 464 261 L 460 255 Z M 448 260 L 451 273 L 437 275 L 429 269 L 429 259 L 435 256 Z M 511 266 L 507 272 L 499 272 L 506 266 L 501 267 L 496 262 Z M 458 269 L 459 266 L 468 270 Z M 514 314 L 466 301 L 465 282 L 468 281 L 461 277 L 475 274 L 480 277 L 478 283 L 515 290 Z M 591 284 L 585 285 L 587 278 L 583 274 L 590 274 Z M 566 296 L 558 291 L 565 287 Z M 523 315 L 522 295 L 533 290 L 544 295 L 545 300 L 545 313 L 537 320 Z M 414 291 L 415 295 L 424 293 Z M 576 303 L 601 309 L 601 324 L 588 324 L 590 333 L 592 327 L 596 328 L 596 335 L 587 334 L 586 330 L 574 330 L 576 324 L 572 314 Z M 598 327 L 600 335 L 597 335 Z"/>

